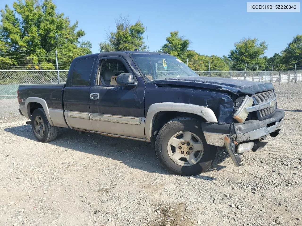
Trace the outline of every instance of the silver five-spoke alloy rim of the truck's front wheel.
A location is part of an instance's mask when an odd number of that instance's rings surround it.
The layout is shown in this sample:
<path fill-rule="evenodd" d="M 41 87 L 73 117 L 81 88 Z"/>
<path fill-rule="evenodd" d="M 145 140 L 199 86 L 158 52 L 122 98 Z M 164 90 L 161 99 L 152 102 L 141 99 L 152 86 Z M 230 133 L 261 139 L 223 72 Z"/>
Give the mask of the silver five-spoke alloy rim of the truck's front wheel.
<path fill-rule="evenodd" d="M 203 143 L 195 133 L 181 131 L 168 141 L 168 154 L 173 162 L 181 166 L 195 165 L 204 154 Z"/>

